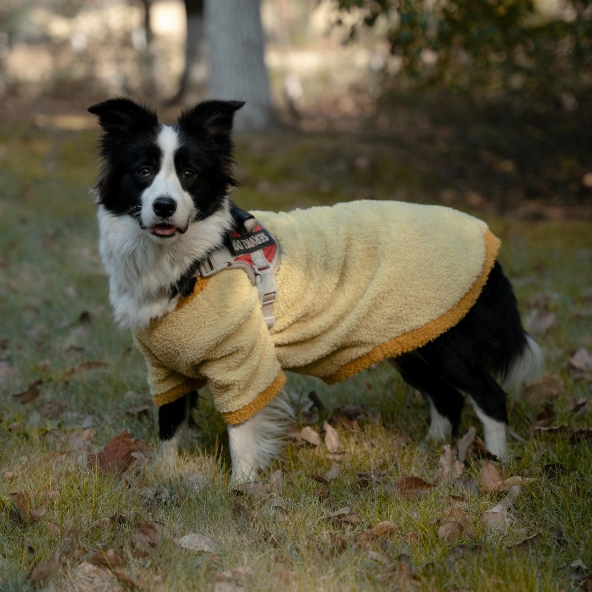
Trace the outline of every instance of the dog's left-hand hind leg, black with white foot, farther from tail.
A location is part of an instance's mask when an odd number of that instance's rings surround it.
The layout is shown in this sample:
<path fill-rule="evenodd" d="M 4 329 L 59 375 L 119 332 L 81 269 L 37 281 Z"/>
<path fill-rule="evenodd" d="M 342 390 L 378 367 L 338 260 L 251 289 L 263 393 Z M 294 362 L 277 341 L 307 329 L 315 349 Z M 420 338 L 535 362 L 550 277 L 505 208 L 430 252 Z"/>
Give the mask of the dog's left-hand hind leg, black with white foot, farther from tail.
<path fill-rule="evenodd" d="M 404 381 L 417 388 L 426 399 L 430 408 L 429 436 L 442 442 L 456 435 L 464 405 L 461 392 L 436 374 L 419 352 L 405 353 L 390 362 Z"/>

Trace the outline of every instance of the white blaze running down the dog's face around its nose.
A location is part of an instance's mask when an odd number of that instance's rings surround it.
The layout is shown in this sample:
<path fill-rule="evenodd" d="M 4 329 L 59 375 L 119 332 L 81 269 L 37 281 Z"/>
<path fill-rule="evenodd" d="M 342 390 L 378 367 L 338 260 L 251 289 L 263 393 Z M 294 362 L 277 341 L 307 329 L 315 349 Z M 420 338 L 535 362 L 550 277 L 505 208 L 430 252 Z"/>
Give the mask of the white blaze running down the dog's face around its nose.
<path fill-rule="evenodd" d="M 141 195 L 142 224 L 152 227 L 156 224 L 157 215 L 153 204 L 159 197 L 169 197 L 175 200 L 176 210 L 171 216 L 171 224 L 178 228 L 187 226 L 189 218 L 195 214 L 195 205 L 191 195 L 183 189 L 175 170 L 175 153 L 179 147 L 179 137 L 170 126 L 161 126 L 156 141 L 162 153 L 160 169 L 152 184 Z"/>

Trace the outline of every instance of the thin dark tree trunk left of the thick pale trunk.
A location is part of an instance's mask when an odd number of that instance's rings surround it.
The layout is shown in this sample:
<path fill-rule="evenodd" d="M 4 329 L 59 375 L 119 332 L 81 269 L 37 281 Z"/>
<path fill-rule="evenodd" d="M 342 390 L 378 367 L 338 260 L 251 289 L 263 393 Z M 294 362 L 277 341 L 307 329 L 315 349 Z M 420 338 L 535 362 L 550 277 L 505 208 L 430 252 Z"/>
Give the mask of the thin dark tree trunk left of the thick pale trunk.
<path fill-rule="evenodd" d="M 169 102 L 181 101 L 189 93 L 197 90 L 205 82 L 204 46 L 204 1 L 185 0 L 186 38 L 185 38 L 185 68 L 179 90 Z M 213 0 L 215 2 L 215 0 Z"/>

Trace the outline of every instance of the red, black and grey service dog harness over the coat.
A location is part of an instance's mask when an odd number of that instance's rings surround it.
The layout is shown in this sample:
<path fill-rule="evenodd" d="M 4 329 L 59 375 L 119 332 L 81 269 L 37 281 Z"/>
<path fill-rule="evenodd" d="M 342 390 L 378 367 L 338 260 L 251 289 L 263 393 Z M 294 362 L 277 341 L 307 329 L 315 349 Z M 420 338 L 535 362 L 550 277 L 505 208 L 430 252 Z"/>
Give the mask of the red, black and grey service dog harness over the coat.
<path fill-rule="evenodd" d="M 274 268 L 279 257 L 279 243 L 249 212 L 233 206 L 231 214 L 236 230 L 230 233 L 225 246 L 200 263 L 197 271 L 202 278 L 208 278 L 224 269 L 243 269 L 259 292 L 263 318 L 271 329 L 275 323 L 274 303 L 278 300 Z"/>

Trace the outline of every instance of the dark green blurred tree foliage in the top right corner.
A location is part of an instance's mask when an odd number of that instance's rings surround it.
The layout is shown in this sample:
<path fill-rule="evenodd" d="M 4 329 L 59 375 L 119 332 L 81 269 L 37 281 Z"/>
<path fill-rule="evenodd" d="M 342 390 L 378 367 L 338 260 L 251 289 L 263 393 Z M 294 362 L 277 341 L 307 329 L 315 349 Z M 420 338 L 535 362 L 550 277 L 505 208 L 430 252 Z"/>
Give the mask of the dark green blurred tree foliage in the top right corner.
<path fill-rule="evenodd" d="M 335 0 L 348 38 L 377 28 L 416 85 L 519 94 L 565 108 L 592 88 L 590 0 Z"/>

